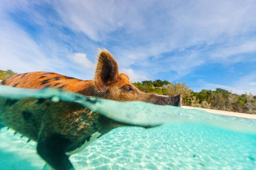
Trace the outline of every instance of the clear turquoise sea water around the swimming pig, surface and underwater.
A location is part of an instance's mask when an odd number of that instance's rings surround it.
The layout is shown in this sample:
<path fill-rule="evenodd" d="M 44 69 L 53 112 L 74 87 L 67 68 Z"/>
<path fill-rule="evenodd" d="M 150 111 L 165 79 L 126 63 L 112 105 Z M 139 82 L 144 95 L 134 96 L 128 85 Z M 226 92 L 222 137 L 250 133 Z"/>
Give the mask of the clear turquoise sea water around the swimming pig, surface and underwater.
<path fill-rule="evenodd" d="M 141 102 L 121 103 L 58 90 L 0 86 L 1 96 L 76 101 L 114 120 L 156 128 L 117 128 L 71 156 L 76 169 L 255 169 L 256 120 Z M 7 128 L 0 133 L 0 169 L 42 169 L 36 143 Z"/>

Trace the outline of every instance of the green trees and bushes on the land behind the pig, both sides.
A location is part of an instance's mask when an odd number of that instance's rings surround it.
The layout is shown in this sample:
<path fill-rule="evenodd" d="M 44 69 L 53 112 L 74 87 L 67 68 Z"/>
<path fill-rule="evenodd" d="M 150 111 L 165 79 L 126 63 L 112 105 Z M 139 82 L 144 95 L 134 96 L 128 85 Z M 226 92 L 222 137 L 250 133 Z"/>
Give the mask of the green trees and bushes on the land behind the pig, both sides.
<path fill-rule="evenodd" d="M 0 70 L 0 82 L 14 74 L 16 73 L 11 70 Z M 155 80 L 154 82 L 144 80 L 133 84 L 139 90 L 147 93 L 166 96 L 181 94 L 183 105 L 191 107 L 256 114 L 256 96 L 251 93 L 237 95 L 221 88 L 216 88 L 216 91 L 201 90 L 201 92 L 193 92 L 185 82 L 175 82 L 173 84 L 166 80 Z"/>

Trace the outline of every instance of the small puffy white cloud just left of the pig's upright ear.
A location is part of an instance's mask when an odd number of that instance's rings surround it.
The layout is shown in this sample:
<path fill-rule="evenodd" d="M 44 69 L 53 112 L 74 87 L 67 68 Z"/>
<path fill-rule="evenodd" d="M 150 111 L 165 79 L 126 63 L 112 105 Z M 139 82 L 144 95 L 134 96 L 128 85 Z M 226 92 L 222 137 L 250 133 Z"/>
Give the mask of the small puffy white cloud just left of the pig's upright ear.
<path fill-rule="evenodd" d="M 68 58 L 71 59 L 71 61 L 85 67 L 85 69 L 94 69 L 94 64 L 86 57 L 86 54 L 84 53 L 69 54 Z"/>

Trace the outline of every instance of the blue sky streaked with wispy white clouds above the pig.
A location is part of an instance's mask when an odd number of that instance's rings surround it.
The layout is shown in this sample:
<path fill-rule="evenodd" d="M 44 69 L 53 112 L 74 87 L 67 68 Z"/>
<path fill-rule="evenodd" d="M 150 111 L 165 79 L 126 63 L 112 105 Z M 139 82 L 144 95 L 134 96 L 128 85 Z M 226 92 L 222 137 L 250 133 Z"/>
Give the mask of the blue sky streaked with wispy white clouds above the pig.
<path fill-rule="evenodd" d="M 256 94 L 256 1 L 0 1 L 0 69 L 93 79 L 98 48 L 131 82 Z"/>

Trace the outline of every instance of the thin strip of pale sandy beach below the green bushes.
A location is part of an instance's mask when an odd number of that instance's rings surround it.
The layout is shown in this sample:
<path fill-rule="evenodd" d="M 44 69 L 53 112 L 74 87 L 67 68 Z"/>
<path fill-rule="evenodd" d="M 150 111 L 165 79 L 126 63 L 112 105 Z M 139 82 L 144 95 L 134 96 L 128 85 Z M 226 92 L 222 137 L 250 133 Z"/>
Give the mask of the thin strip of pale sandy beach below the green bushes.
<path fill-rule="evenodd" d="M 199 109 L 202 111 L 207 111 L 208 113 L 214 113 L 214 114 L 222 114 L 226 116 L 236 116 L 236 117 L 242 117 L 242 118 L 251 118 L 256 119 L 256 114 L 247 114 L 247 113 L 238 113 L 238 112 L 228 112 L 228 111 L 219 111 L 214 109 L 204 109 L 204 108 L 196 108 L 196 107 L 188 107 L 188 106 L 182 106 L 183 109 Z"/>

